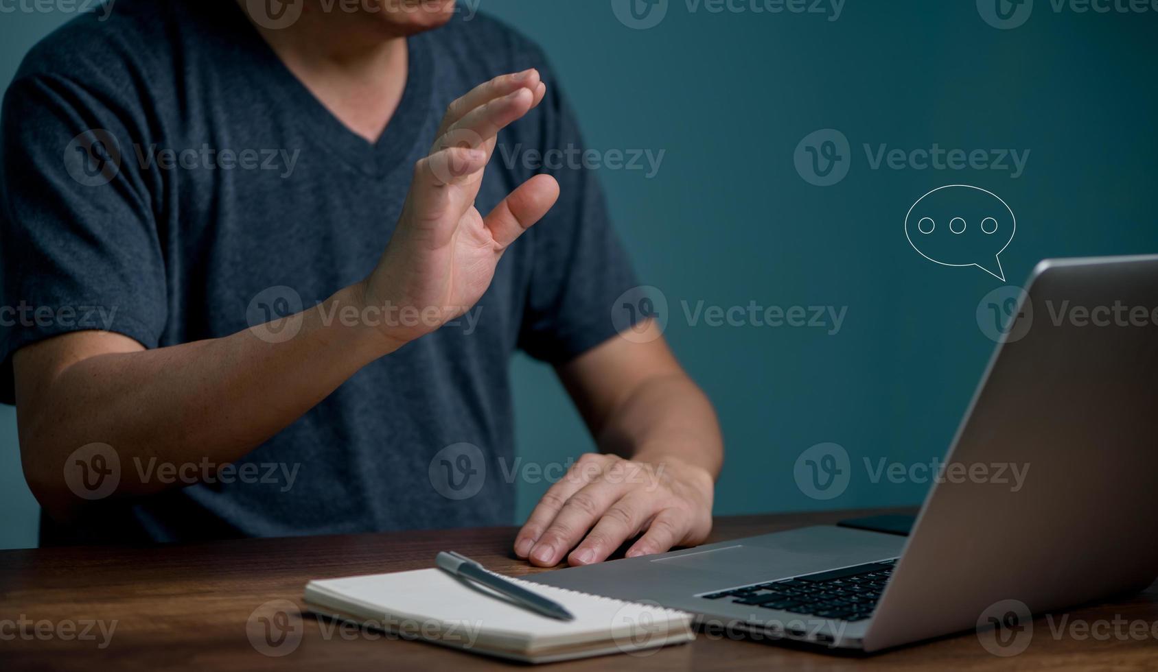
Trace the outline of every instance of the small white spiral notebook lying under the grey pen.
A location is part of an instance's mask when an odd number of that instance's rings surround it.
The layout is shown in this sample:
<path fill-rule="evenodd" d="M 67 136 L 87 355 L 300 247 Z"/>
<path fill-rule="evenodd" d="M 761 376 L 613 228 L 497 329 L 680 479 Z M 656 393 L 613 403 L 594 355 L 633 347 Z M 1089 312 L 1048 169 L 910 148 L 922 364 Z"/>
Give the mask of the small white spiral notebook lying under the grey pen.
<path fill-rule="evenodd" d="M 558 601 L 576 619 L 536 614 L 437 568 L 310 581 L 305 601 L 315 614 L 523 663 L 652 649 L 695 636 L 684 612 L 511 581 Z"/>

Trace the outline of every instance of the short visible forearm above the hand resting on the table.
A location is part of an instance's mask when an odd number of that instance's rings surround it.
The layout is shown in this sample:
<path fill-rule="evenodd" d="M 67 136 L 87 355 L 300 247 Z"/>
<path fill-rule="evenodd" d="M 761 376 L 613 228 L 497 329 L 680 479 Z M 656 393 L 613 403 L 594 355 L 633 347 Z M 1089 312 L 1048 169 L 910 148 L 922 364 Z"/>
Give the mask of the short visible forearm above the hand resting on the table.
<path fill-rule="evenodd" d="M 609 414 L 600 450 L 640 461 L 675 458 L 717 478 L 724 441 L 708 397 L 683 372 L 638 383 Z"/>

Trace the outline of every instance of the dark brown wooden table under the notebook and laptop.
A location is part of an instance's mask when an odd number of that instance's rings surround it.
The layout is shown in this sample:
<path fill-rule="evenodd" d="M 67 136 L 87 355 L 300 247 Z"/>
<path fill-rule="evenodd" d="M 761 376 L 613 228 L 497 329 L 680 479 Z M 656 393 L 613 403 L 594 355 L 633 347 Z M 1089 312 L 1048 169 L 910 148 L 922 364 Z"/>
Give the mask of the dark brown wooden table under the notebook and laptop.
<path fill-rule="evenodd" d="M 828 524 L 882 511 L 830 511 L 719 518 L 713 541 L 802 525 Z M 893 511 L 895 512 L 895 510 Z M 288 640 L 267 648 L 247 623 L 269 614 L 271 600 L 300 605 L 310 578 L 430 567 L 453 548 L 512 575 L 537 571 L 514 559 L 513 527 L 395 532 L 288 539 L 247 539 L 146 548 L 49 548 L 0 552 L 0 669 L 35 670 L 442 670 L 508 667 L 491 658 L 423 642 L 372 640 L 362 630 L 334 629 L 309 615 L 293 618 Z M 1107 568 L 1112 570 L 1112 568 Z M 285 603 L 276 603 L 285 604 Z M 1054 616 L 1056 627 L 1067 614 Z M 1055 637 L 1034 622 L 1029 647 L 1012 657 L 982 648 L 974 633 L 875 656 L 705 636 L 646 656 L 562 663 L 552 670 L 836 670 L 1158 669 L 1158 584 L 1124 601 L 1068 612 L 1069 621 L 1128 619 L 1149 635 L 1108 641 Z M 252 616 L 252 618 L 251 618 Z M 112 622 L 116 625 L 112 626 Z M 91 626 L 90 638 L 76 634 Z M 111 637 L 105 632 L 115 627 Z M 69 629 L 69 628 L 74 629 Z M 1069 627 L 1069 626 L 1068 626 Z M 1136 626 L 1143 627 L 1143 626 Z M 1070 632 L 1069 629 L 1067 630 Z M 37 634 L 39 633 L 39 635 Z M 71 635 L 69 635 L 71 633 Z M 64 635 L 64 636 L 61 636 Z M 300 637 L 300 640 L 298 638 Z M 107 644 L 103 649 L 101 644 Z M 296 644 L 296 645 L 294 645 Z M 259 651 L 265 649 L 271 653 Z"/>

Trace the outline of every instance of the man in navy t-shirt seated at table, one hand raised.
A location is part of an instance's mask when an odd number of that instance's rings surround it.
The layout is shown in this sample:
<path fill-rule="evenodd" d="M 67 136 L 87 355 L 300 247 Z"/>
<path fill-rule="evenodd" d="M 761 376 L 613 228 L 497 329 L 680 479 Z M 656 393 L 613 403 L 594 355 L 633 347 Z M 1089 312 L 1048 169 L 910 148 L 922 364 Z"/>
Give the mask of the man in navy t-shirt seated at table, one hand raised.
<path fill-rule="evenodd" d="M 120 0 L 29 54 L 0 244 L 3 305 L 35 312 L 0 356 L 44 542 L 506 524 L 516 348 L 603 453 L 515 553 L 705 538 L 719 429 L 654 324 L 616 335 L 635 281 L 594 176 L 492 161 L 578 146 L 576 123 L 537 49 L 454 16 Z"/>

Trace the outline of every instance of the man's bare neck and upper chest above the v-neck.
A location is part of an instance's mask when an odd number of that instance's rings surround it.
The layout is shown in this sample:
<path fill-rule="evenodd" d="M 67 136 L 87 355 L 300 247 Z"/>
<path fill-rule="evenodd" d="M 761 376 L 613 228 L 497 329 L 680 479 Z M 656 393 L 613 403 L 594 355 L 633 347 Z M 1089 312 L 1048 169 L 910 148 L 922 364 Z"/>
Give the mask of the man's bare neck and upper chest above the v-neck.
<path fill-rule="evenodd" d="M 242 6 L 244 2 L 242 0 Z M 374 142 L 406 86 L 405 37 L 373 15 L 306 12 L 291 27 L 258 32 L 301 83 L 347 128 Z"/>

